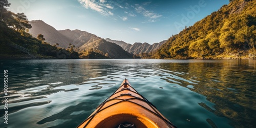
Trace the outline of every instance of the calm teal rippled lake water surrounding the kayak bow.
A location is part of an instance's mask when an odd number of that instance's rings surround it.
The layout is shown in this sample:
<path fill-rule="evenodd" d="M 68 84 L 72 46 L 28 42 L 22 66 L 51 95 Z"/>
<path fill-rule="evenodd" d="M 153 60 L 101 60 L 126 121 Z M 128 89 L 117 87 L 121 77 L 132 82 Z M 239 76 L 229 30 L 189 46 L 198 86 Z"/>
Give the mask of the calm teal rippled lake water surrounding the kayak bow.
<path fill-rule="evenodd" d="M 178 127 L 256 125 L 256 60 L 0 60 L 0 66 L 0 127 L 76 127 L 124 78 Z"/>

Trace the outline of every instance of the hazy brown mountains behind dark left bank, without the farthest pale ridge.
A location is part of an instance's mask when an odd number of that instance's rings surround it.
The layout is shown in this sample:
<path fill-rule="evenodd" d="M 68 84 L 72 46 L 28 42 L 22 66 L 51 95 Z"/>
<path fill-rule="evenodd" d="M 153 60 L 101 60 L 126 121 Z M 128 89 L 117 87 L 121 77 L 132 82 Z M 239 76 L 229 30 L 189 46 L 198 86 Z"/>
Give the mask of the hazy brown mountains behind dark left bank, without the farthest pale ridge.
<path fill-rule="evenodd" d="M 32 20 L 29 24 L 32 26 L 29 33 L 34 37 L 42 34 L 46 39 L 45 41 L 51 45 L 58 44 L 62 48 L 74 46 L 75 50 L 80 52 L 82 56 L 92 56 L 84 55 L 83 52 L 86 52 L 87 54 L 99 53 L 106 58 L 133 58 L 132 54 L 115 43 L 106 41 L 86 31 L 69 29 L 58 31 L 42 20 Z"/>

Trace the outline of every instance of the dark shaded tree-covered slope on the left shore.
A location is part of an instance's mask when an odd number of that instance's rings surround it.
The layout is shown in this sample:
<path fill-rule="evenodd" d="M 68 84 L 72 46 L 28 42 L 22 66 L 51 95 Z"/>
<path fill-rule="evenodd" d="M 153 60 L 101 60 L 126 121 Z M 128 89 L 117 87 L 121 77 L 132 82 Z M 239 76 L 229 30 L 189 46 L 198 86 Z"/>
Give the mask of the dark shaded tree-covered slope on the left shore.
<path fill-rule="evenodd" d="M 45 42 L 44 35 L 32 37 L 27 33 L 32 26 L 26 15 L 8 11 L 9 6 L 8 1 L 0 1 L 0 58 L 79 58 L 73 45 L 62 49 Z"/>

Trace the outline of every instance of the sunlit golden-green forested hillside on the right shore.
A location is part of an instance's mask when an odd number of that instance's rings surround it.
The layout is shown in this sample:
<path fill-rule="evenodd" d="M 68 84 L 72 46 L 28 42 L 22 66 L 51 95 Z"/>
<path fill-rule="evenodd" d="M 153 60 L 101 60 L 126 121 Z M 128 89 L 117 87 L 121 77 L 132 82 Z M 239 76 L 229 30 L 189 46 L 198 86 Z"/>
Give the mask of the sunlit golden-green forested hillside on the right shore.
<path fill-rule="evenodd" d="M 256 1 L 233 0 L 170 37 L 155 58 L 255 58 Z"/>

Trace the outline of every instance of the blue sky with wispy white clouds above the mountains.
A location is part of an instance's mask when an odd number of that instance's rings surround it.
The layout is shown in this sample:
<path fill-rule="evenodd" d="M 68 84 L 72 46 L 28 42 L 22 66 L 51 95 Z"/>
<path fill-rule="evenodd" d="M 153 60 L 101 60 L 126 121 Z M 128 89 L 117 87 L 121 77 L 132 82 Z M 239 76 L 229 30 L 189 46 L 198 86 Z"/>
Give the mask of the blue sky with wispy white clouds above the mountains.
<path fill-rule="evenodd" d="M 41 19 L 57 30 L 79 29 L 101 38 L 160 42 L 214 11 L 228 0 L 9 0 L 9 10 Z"/>

